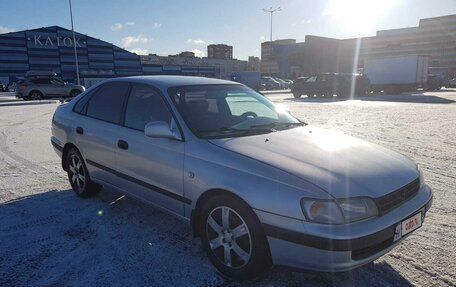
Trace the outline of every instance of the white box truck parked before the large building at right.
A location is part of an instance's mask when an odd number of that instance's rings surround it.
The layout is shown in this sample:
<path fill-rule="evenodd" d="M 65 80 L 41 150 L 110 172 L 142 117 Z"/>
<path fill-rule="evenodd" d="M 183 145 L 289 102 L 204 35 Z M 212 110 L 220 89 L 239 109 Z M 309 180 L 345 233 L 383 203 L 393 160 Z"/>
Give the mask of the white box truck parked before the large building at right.
<path fill-rule="evenodd" d="M 364 60 L 363 74 L 371 91 L 400 93 L 426 88 L 429 57 L 423 55 L 372 57 Z"/>

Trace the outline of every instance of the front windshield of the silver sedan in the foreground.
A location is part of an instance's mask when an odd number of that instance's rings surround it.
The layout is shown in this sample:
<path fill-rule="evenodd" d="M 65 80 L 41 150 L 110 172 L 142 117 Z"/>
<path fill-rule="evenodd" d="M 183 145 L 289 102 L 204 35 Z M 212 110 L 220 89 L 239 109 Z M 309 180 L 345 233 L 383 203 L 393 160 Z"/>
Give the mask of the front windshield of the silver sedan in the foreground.
<path fill-rule="evenodd" d="M 263 95 L 240 85 L 174 87 L 168 92 L 200 138 L 241 137 L 304 125 Z"/>

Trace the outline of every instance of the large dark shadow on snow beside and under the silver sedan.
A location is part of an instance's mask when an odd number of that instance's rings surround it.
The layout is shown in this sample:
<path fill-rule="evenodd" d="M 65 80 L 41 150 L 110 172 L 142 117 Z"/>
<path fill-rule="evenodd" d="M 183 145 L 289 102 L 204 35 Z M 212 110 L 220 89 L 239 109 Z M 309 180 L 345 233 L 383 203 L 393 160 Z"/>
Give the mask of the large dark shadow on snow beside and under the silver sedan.
<path fill-rule="evenodd" d="M 409 286 L 380 260 L 338 274 L 274 268 L 238 282 L 223 278 L 191 228 L 114 190 L 81 199 L 50 190 L 0 204 L 0 286 Z"/>

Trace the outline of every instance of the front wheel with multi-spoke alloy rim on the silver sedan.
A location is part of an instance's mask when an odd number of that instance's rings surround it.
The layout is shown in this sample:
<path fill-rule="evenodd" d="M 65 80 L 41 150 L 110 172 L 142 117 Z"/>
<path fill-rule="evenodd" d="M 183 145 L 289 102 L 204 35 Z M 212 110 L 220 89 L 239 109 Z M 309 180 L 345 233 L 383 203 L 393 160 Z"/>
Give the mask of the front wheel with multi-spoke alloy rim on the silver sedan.
<path fill-rule="evenodd" d="M 210 198 L 202 209 L 199 226 L 207 256 L 224 275 L 253 279 L 271 267 L 260 222 L 240 200 L 227 195 Z"/>

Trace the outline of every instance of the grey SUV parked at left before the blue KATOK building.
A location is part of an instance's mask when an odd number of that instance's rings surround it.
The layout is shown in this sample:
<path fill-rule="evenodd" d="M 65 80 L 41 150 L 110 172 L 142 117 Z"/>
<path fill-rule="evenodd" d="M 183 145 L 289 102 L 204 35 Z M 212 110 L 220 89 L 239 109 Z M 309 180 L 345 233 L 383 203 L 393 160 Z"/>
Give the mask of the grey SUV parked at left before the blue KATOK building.
<path fill-rule="evenodd" d="M 25 80 L 17 85 L 16 97 L 24 100 L 41 100 L 53 97 L 75 97 L 85 91 L 85 87 L 67 83 L 53 72 L 27 72 Z"/>

